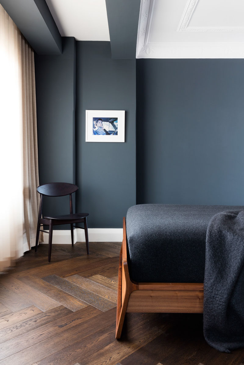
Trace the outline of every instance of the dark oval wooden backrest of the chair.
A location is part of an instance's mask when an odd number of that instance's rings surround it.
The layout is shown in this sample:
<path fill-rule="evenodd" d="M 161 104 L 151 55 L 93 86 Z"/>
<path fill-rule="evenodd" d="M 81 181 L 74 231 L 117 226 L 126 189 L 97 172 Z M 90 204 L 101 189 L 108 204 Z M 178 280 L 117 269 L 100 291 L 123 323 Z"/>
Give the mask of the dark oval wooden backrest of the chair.
<path fill-rule="evenodd" d="M 64 196 L 74 193 L 78 186 L 69 183 L 49 183 L 40 185 L 37 188 L 38 193 L 46 196 Z"/>

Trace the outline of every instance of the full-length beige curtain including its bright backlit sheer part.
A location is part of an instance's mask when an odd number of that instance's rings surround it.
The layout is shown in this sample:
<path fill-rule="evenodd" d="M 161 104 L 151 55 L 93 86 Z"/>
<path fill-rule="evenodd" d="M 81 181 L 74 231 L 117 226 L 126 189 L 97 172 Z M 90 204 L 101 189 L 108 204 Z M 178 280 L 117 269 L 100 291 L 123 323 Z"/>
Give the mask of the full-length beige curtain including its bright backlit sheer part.
<path fill-rule="evenodd" d="M 1 5 L 0 123 L 3 272 L 35 245 L 39 180 L 34 53 Z"/>

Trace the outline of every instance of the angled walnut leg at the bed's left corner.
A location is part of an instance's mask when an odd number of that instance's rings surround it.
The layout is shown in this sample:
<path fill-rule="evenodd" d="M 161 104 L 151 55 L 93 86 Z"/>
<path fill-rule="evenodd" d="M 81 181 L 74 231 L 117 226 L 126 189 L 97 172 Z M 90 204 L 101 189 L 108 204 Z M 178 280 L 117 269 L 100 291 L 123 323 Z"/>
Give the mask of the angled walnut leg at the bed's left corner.
<path fill-rule="evenodd" d="M 127 265 L 127 241 L 125 218 L 123 219 L 123 242 L 120 250 L 118 293 L 117 293 L 117 313 L 116 313 L 116 333 L 115 338 L 119 339 L 124 324 L 125 313 L 131 292 L 138 290 L 138 284 L 132 283 L 129 278 Z"/>

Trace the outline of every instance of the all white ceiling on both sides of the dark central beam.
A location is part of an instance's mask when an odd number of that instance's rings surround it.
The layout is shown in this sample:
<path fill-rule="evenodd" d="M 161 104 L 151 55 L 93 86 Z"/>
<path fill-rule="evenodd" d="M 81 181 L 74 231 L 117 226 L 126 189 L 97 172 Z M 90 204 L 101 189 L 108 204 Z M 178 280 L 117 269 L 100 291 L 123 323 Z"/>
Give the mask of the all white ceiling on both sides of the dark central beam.
<path fill-rule="evenodd" d="M 105 0 L 46 3 L 61 36 L 110 40 Z M 244 58 L 244 0 L 141 0 L 136 57 Z"/>

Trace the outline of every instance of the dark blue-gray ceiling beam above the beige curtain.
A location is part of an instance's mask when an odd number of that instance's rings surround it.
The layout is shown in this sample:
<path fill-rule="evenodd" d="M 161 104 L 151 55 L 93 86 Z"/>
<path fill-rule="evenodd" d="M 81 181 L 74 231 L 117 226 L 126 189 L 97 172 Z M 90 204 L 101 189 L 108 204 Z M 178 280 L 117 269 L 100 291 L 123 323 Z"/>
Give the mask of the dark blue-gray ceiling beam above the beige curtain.
<path fill-rule="evenodd" d="M 45 0 L 0 0 L 37 54 L 61 54 L 62 38 Z"/>

